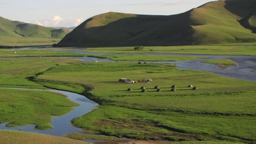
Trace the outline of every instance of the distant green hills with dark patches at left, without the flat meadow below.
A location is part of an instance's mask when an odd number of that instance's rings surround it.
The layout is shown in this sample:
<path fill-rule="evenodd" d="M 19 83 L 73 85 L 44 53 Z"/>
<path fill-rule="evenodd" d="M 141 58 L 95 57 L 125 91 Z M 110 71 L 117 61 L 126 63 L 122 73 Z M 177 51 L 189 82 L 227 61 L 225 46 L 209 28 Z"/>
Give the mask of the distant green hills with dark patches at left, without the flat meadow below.
<path fill-rule="evenodd" d="M 12 21 L 0 17 L 1 36 L 21 36 L 33 38 L 63 38 L 70 31 L 55 28 L 47 28 L 37 24 L 28 24 L 19 21 Z"/>

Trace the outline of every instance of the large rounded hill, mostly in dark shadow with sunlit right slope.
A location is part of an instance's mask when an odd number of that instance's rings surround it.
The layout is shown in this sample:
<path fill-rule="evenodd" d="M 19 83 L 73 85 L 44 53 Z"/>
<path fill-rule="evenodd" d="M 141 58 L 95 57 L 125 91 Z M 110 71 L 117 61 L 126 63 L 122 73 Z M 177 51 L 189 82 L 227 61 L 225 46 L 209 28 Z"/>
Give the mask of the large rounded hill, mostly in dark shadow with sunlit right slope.
<path fill-rule="evenodd" d="M 256 1 L 212 1 L 178 15 L 108 12 L 77 26 L 58 44 L 72 46 L 197 45 L 256 42 Z"/>

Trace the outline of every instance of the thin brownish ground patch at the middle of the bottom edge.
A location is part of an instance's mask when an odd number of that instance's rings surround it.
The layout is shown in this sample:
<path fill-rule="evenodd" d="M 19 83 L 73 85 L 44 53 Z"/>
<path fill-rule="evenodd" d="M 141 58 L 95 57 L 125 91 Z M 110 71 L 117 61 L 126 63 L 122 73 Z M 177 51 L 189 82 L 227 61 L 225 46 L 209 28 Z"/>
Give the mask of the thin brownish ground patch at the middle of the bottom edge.
<path fill-rule="evenodd" d="M 170 143 L 166 141 L 141 141 L 141 140 L 120 140 L 120 141 L 106 141 L 98 142 L 97 144 L 164 144 Z"/>

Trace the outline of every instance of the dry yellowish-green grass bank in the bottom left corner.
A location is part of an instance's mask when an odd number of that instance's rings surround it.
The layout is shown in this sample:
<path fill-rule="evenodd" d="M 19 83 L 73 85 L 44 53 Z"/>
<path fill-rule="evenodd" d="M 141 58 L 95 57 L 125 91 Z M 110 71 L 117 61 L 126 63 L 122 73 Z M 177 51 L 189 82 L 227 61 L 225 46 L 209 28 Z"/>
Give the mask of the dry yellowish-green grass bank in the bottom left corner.
<path fill-rule="evenodd" d="M 89 144 L 84 141 L 30 132 L 0 131 L 0 137 L 0 143 L 2 144 Z"/>

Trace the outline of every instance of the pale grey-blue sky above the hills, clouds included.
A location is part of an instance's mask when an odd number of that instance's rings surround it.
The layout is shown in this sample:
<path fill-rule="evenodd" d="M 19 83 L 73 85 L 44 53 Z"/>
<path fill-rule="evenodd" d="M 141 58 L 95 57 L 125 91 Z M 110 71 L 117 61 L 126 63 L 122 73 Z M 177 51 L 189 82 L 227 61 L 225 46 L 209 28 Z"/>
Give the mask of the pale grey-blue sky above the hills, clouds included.
<path fill-rule="evenodd" d="M 215 0 L 0 0 L 0 17 L 71 27 L 105 12 L 174 15 Z"/>

